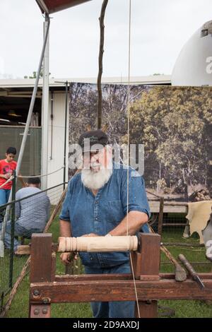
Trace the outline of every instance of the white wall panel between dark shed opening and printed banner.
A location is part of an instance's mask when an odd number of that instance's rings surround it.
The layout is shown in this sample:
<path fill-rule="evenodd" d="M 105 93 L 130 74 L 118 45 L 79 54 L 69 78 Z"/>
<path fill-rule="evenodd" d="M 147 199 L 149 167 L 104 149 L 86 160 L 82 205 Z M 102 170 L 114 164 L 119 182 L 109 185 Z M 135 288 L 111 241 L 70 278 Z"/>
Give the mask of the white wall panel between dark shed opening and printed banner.
<path fill-rule="evenodd" d="M 61 169 L 64 166 L 64 128 L 65 128 L 65 107 L 66 94 L 54 91 L 53 93 L 53 121 L 51 121 L 51 98 L 49 93 L 49 139 L 48 139 L 48 174 Z M 52 133 L 53 126 L 53 133 Z M 52 156 L 51 156 L 52 142 Z M 66 135 L 66 181 L 68 180 L 68 150 L 69 150 L 69 105 L 67 112 L 67 135 Z M 50 174 L 47 177 L 47 188 L 61 184 L 64 181 L 64 169 Z M 56 189 L 54 189 L 56 191 Z M 59 189 L 57 189 L 58 191 Z M 61 191 L 63 187 L 61 186 Z M 54 196 L 54 195 L 52 195 Z M 51 200 L 52 201 L 52 200 Z M 52 202 L 53 203 L 53 202 Z"/>

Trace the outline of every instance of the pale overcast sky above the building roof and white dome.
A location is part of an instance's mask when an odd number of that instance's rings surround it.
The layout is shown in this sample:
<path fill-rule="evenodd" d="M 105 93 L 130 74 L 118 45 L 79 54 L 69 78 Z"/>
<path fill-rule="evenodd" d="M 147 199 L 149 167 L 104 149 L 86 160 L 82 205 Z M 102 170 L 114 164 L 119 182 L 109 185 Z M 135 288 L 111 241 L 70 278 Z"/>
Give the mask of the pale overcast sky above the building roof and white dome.
<path fill-rule="evenodd" d="M 51 77 L 98 75 L 101 5 L 92 0 L 51 15 Z M 131 76 L 171 74 L 184 43 L 211 19 L 211 0 L 131 0 Z M 42 22 L 35 0 L 0 1 L 0 78 L 37 71 Z M 129 0 L 109 0 L 103 76 L 127 76 L 128 33 Z"/>

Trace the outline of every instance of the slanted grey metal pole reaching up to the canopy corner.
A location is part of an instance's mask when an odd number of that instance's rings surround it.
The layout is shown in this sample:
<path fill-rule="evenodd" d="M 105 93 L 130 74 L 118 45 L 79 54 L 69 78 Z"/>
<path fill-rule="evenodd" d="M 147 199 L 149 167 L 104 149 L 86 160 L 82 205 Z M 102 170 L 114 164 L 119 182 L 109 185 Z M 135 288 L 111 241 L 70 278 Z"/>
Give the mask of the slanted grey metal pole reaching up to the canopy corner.
<path fill-rule="evenodd" d="M 20 153 L 18 155 L 18 163 L 17 163 L 17 167 L 16 167 L 16 173 L 17 174 L 20 171 L 20 165 L 21 165 L 22 158 L 23 158 L 25 143 L 26 143 L 26 139 L 27 139 L 27 136 L 28 136 L 29 127 L 30 127 L 30 120 L 31 120 L 31 117 L 32 117 L 32 114 L 33 114 L 33 108 L 34 108 L 34 105 L 35 105 L 35 97 L 36 97 L 36 94 L 37 94 L 37 86 L 38 86 L 38 83 L 39 83 L 39 77 L 40 77 L 40 71 L 41 71 L 41 67 L 42 67 L 42 61 L 43 61 L 45 48 L 46 48 L 46 44 L 47 44 L 47 37 L 49 35 L 49 25 L 50 25 L 49 16 L 47 16 L 47 18 L 48 18 L 47 31 L 46 31 L 46 34 L 45 34 L 45 40 L 44 40 L 43 45 L 42 45 L 42 52 L 41 52 L 41 55 L 40 55 L 40 61 L 39 61 L 38 69 L 37 69 L 37 77 L 36 77 L 36 80 L 35 80 L 35 86 L 33 88 L 33 95 L 32 95 L 32 99 L 31 99 L 31 102 L 30 102 L 30 108 L 29 108 L 29 112 L 28 112 L 28 119 L 27 119 L 26 124 L 25 124 L 23 140 L 22 140 L 22 143 L 21 143 L 21 146 L 20 146 Z M 11 202 L 11 194 L 8 198 L 8 202 Z M 6 215 L 7 215 L 8 211 L 9 211 L 9 208 L 6 209 Z M 5 222 L 6 222 L 6 218 L 4 218 L 4 223 L 3 223 L 2 228 L 1 228 L 0 257 L 4 257 L 4 242 L 3 242 L 3 239 L 4 239 L 4 233 L 5 233 Z"/>

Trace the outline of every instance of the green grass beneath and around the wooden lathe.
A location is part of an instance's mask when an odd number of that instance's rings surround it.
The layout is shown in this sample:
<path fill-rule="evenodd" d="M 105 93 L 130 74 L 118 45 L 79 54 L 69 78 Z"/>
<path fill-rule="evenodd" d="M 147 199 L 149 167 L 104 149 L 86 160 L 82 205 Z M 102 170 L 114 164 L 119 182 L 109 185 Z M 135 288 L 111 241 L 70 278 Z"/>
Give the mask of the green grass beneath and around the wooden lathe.
<path fill-rule="evenodd" d="M 57 242 L 59 235 L 58 219 L 54 220 L 54 223 L 49 229 L 49 232 L 53 234 L 53 242 Z M 182 238 L 182 228 L 165 230 L 163 232 L 163 242 L 184 242 L 184 243 L 199 243 L 199 239 L 195 236 L 189 239 Z M 189 261 L 202 261 L 208 262 L 205 258 L 205 248 L 204 247 L 168 247 L 173 256 L 177 259 L 178 254 L 184 254 Z M 168 262 L 167 257 L 161 254 L 161 272 L 174 272 L 172 264 L 163 264 Z M 208 272 L 211 271 L 211 265 L 194 266 L 196 271 Z M 78 273 L 83 273 L 83 267 L 78 261 Z M 57 254 L 57 274 L 64 274 L 64 265 L 59 259 L 59 254 Z M 28 317 L 28 299 L 29 299 L 29 276 L 26 275 L 16 297 L 11 304 L 11 308 L 8 311 L 7 317 Z M 175 317 L 188 317 L 188 318 L 205 318 L 212 316 L 212 305 L 207 304 L 204 301 L 158 301 L 158 304 L 170 307 L 175 310 Z M 160 310 L 159 310 L 160 312 Z M 60 318 L 88 318 L 92 317 L 89 303 L 79 303 L 79 304 L 52 304 L 51 305 L 51 316 Z"/>

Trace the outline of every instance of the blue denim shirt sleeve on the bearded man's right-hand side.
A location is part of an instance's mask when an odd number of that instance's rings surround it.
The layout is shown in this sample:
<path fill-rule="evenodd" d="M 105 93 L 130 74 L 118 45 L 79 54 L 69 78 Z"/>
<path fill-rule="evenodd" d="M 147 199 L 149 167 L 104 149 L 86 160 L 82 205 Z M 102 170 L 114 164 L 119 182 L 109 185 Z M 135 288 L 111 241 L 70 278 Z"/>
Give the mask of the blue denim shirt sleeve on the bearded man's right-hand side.
<path fill-rule="evenodd" d="M 135 176 L 136 174 L 136 176 Z M 127 192 L 128 210 L 127 210 Z M 139 173 L 129 170 L 129 186 L 127 188 L 127 170 L 124 170 L 122 177 L 122 204 L 124 214 L 130 211 L 140 211 L 146 213 L 148 218 L 151 216 L 150 208 L 145 190 L 145 182 Z"/>

